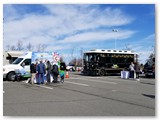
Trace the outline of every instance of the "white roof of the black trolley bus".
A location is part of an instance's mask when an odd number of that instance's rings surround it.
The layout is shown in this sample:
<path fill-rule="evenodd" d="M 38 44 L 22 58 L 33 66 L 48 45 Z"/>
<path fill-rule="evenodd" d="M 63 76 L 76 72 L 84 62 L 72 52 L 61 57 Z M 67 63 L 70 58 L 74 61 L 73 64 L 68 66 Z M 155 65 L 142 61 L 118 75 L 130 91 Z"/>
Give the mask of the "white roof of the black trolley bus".
<path fill-rule="evenodd" d="M 95 50 L 90 50 L 86 51 L 84 53 L 118 53 L 118 54 L 136 54 L 133 51 L 129 50 L 104 50 L 104 49 L 95 49 Z"/>

